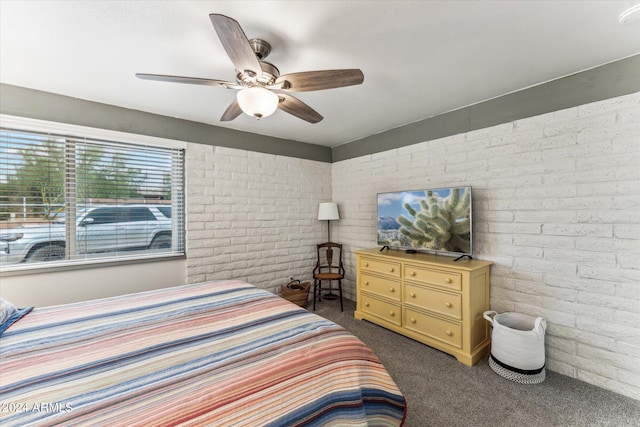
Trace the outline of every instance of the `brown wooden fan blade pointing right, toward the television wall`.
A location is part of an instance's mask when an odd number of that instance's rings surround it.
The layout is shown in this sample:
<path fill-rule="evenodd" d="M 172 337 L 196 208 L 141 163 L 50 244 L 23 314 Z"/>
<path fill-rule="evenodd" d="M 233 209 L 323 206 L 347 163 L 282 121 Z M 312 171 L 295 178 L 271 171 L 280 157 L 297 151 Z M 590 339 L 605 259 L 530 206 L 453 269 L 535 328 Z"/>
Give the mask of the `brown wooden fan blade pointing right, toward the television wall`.
<path fill-rule="evenodd" d="M 281 90 L 309 92 L 359 85 L 363 81 L 364 74 L 359 69 L 305 71 L 280 76 L 276 79 L 274 86 L 282 84 Z"/>

